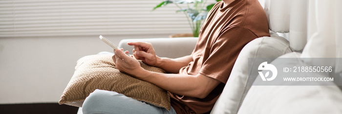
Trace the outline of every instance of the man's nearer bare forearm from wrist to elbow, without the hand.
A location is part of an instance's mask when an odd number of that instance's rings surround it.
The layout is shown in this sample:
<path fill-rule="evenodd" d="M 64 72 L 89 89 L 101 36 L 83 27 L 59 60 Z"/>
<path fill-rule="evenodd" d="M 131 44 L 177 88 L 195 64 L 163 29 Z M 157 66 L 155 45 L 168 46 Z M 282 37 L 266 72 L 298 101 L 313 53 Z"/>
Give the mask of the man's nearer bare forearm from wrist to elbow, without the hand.
<path fill-rule="evenodd" d="M 137 77 L 172 93 L 205 98 L 220 83 L 202 74 L 167 74 L 140 70 Z"/>

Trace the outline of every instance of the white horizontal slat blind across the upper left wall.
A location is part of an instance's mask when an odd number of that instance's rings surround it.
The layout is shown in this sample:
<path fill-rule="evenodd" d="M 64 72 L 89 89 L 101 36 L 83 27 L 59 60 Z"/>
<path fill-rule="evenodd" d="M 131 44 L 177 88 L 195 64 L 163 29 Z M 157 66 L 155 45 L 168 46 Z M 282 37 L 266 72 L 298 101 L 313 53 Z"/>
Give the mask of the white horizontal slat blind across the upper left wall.
<path fill-rule="evenodd" d="M 0 0 L 0 37 L 191 33 L 162 0 Z"/>

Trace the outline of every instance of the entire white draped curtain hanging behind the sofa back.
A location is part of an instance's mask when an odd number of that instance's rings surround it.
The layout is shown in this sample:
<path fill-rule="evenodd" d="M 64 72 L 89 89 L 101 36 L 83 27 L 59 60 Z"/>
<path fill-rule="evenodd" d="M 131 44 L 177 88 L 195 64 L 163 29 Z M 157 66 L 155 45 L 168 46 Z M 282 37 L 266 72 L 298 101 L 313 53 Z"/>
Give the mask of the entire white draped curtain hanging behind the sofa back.
<path fill-rule="evenodd" d="M 269 27 L 289 32 L 290 47 L 316 67 L 342 71 L 342 0 L 259 0 Z M 305 59 L 304 59 L 305 58 Z M 336 58 L 315 61 L 313 58 Z M 328 60 L 328 59 L 326 59 Z"/>

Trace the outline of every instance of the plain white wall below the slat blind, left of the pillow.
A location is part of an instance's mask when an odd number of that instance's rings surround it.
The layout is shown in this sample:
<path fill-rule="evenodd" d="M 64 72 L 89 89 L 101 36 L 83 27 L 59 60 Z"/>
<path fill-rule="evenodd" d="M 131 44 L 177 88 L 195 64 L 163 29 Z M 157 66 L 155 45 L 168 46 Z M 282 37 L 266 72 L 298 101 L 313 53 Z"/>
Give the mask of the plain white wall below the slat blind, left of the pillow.
<path fill-rule="evenodd" d="M 105 37 L 117 45 L 127 38 L 168 35 Z M 57 103 L 76 61 L 100 51 L 112 48 L 98 36 L 0 38 L 0 104 Z"/>

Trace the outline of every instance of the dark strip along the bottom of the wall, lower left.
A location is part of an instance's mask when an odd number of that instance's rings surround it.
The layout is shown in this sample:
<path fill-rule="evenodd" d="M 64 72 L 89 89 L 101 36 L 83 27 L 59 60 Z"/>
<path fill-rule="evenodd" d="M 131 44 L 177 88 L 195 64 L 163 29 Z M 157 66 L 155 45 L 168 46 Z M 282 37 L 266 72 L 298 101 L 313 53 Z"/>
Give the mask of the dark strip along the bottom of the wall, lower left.
<path fill-rule="evenodd" d="M 0 114 L 77 114 L 78 107 L 58 103 L 0 104 Z"/>

